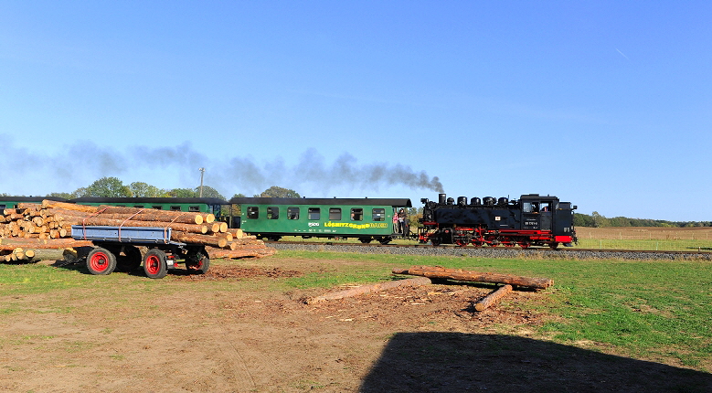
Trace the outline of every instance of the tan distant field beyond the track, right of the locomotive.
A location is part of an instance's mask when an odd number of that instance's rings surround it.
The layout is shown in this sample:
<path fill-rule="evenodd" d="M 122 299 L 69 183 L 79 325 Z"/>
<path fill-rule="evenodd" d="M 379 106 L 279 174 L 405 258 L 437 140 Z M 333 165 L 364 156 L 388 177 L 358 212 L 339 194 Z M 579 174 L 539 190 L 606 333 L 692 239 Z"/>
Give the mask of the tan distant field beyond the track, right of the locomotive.
<path fill-rule="evenodd" d="M 576 228 L 581 249 L 712 250 L 712 228 Z"/>

